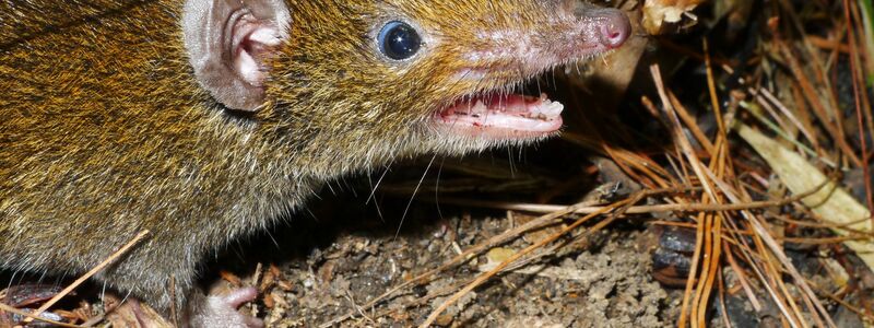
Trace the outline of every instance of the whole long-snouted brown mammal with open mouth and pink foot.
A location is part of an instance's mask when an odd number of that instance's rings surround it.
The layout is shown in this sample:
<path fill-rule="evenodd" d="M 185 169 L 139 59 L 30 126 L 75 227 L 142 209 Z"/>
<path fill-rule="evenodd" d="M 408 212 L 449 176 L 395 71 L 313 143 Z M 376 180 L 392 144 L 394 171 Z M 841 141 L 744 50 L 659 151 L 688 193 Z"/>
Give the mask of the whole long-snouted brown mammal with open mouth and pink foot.
<path fill-rule="evenodd" d="M 80 274 L 149 230 L 95 279 L 257 325 L 252 291 L 196 288 L 206 256 L 326 180 L 555 134 L 562 105 L 513 90 L 629 34 L 570 0 L 4 1 L 0 268 Z"/>

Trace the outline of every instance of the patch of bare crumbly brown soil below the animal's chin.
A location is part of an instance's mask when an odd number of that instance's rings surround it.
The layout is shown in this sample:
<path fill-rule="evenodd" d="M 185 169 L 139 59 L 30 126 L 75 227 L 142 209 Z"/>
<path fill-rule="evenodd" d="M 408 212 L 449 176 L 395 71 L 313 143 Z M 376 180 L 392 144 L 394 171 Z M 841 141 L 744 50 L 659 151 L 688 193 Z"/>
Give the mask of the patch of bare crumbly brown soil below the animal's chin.
<path fill-rule="evenodd" d="M 451 259 L 458 249 L 509 230 L 516 221 L 471 215 L 411 220 L 412 232 L 397 238 L 378 225 L 344 233 L 304 259 L 279 268 L 287 285 L 265 297 L 273 327 L 310 327 L 356 312 L 341 326 L 409 327 L 421 323 L 447 293 L 487 267 L 488 255 L 406 291 L 376 309 L 364 303 L 390 288 Z M 430 222 L 428 222 L 430 221 Z M 447 327 L 665 327 L 676 316 L 676 295 L 649 274 L 651 256 L 641 249 L 646 233 L 634 225 L 604 231 L 542 265 L 507 272 L 451 306 L 437 324 Z M 503 249 L 518 250 L 519 239 Z M 426 295 L 439 295 L 426 297 Z M 425 298 L 423 298 L 425 297 Z"/>

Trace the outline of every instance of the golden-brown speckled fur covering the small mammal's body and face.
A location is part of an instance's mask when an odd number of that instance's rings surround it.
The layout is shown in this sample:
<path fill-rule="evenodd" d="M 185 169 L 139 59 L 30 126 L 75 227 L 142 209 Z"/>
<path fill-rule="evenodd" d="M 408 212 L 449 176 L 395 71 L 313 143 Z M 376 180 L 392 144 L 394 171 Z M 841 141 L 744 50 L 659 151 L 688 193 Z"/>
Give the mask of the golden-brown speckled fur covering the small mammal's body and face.
<path fill-rule="evenodd" d="M 181 1 L 11 2 L 0 4 L 0 268 L 80 274 L 150 230 L 96 279 L 163 311 L 170 278 L 185 303 L 205 256 L 288 215 L 321 181 L 532 141 L 446 136 L 427 118 L 548 68 L 457 56 L 515 46 L 477 33 L 524 32 L 550 48 L 563 24 L 557 1 L 288 0 L 268 104 L 244 115 L 196 83 Z M 374 28 L 398 14 L 439 32 L 421 60 L 376 55 Z M 488 74 L 454 79 L 464 68 Z"/>

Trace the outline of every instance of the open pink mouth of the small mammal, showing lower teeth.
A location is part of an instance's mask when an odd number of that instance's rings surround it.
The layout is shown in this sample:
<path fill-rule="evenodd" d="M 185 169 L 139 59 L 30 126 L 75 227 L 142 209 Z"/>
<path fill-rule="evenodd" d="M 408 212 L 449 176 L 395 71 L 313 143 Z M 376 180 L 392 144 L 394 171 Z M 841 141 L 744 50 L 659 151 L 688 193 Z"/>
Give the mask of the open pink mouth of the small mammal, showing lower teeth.
<path fill-rule="evenodd" d="M 486 93 L 464 97 L 434 115 L 450 132 L 495 139 L 548 136 L 562 128 L 564 105 L 546 94 Z"/>

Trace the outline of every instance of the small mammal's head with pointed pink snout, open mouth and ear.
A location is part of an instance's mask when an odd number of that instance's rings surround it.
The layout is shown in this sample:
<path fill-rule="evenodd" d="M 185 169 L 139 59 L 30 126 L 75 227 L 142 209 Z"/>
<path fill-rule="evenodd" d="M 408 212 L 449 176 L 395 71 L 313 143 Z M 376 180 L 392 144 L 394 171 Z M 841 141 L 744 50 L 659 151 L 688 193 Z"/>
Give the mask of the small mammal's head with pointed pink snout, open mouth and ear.
<path fill-rule="evenodd" d="M 343 167 L 554 134 L 563 106 L 516 92 L 630 34 L 619 11 L 567 0 L 190 0 L 184 23 L 216 99 Z"/>

